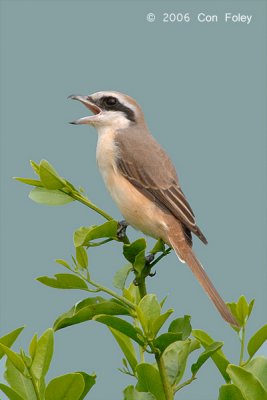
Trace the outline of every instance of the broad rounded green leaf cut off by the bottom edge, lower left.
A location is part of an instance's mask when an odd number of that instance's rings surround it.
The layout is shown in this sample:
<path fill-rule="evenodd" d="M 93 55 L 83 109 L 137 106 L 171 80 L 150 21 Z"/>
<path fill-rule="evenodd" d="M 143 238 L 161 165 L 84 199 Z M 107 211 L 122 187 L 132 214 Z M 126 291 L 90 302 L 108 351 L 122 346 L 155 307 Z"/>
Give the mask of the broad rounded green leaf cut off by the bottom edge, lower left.
<path fill-rule="evenodd" d="M 81 374 L 62 375 L 49 382 L 45 400 L 80 400 L 84 388 L 85 383 Z"/>

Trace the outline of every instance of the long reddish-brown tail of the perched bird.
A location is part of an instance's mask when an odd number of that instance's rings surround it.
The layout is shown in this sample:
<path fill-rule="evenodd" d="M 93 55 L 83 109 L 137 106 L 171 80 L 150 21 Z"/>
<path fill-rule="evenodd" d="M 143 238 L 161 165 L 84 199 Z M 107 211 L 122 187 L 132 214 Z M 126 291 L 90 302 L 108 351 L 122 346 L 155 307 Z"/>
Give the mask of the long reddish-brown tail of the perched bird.
<path fill-rule="evenodd" d="M 230 310 L 226 306 L 225 302 L 213 286 L 211 280 L 209 279 L 208 275 L 206 274 L 204 268 L 196 258 L 195 254 L 193 253 L 192 249 L 187 246 L 186 251 L 179 251 L 178 246 L 175 243 L 175 240 L 169 237 L 170 243 L 177 255 L 177 257 L 181 260 L 181 258 L 186 262 L 189 266 L 203 289 L 206 291 L 207 295 L 223 317 L 223 319 L 231 325 L 239 327 L 238 323 L 236 322 L 235 318 L 231 314 Z"/>

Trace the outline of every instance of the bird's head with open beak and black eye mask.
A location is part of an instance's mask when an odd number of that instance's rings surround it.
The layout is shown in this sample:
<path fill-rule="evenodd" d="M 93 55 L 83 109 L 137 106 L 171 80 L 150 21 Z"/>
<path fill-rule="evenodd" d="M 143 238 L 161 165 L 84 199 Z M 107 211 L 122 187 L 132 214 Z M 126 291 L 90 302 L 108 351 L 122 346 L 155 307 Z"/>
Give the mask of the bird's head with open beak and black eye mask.
<path fill-rule="evenodd" d="M 71 95 L 69 98 L 80 101 L 93 113 L 72 121 L 71 124 L 89 124 L 97 129 L 125 129 L 143 121 L 143 112 L 136 101 L 119 92 L 97 92 L 89 96 Z"/>

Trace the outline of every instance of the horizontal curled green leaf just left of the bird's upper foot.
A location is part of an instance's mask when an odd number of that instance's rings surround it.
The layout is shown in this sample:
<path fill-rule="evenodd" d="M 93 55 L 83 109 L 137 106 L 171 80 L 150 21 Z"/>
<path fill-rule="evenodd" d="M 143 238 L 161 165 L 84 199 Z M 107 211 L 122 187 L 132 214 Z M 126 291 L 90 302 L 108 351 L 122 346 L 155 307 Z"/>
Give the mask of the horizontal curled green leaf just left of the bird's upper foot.
<path fill-rule="evenodd" d="M 74 232 L 74 246 L 87 246 L 91 240 L 101 238 L 116 238 L 118 230 L 117 221 L 107 221 L 102 225 L 81 226 Z"/>

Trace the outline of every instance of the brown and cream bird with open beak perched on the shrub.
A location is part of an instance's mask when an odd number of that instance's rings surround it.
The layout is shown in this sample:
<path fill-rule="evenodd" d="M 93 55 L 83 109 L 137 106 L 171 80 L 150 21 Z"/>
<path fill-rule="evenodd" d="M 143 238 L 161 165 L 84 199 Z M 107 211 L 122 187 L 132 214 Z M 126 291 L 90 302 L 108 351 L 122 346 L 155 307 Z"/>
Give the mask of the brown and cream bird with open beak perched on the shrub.
<path fill-rule="evenodd" d="M 186 263 L 222 318 L 238 324 L 192 250 L 192 234 L 207 239 L 179 183 L 170 157 L 150 133 L 140 105 L 117 91 L 70 95 L 92 113 L 70 122 L 98 132 L 96 160 L 104 183 L 127 224 L 162 239 Z"/>

